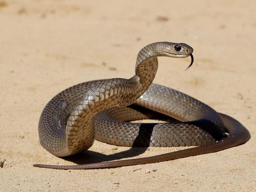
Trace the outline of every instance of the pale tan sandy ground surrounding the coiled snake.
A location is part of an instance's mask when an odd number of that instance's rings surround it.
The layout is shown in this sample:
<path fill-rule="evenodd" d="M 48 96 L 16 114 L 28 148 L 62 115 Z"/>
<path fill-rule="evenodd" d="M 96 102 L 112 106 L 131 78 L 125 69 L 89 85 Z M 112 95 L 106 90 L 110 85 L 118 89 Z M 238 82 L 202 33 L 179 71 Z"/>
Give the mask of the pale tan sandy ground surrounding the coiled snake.
<path fill-rule="evenodd" d="M 0 191 L 253 191 L 256 188 L 255 1 L 0 0 Z M 61 159 L 39 144 L 46 103 L 83 81 L 130 78 L 137 52 L 186 42 L 190 59 L 159 59 L 155 83 L 181 90 L 250 131 L 228 150 L 103 170 L 50 170 L 34 163 L 107 161 L 128 148 L 95 142 Z M 138 151 L 141 149 L 138 149 Z M 172 151 L 148 148 L 136 156 Z M 153 171 L 154 170 L 154 171 Z"/>

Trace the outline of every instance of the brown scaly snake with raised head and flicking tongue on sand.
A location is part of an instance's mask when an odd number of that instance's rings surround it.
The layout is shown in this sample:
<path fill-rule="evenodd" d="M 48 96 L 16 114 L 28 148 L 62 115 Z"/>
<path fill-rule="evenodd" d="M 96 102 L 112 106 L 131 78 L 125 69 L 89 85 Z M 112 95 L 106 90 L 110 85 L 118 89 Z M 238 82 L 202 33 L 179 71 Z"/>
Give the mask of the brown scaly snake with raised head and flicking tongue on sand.
<path fill-rule="evenodd" d="M 93 80 L 69 87 L 48 102 L 39 119 L 43 148 L 58 157 L 89 149 L 95 139 L 126 147 L 196 146 L 152 157 L 78 165 L 34 164 L 54 169 L 99 169 L 169 161 L 238 146 L 250 138 L 236 119 L 178 90 L 152 83 L 158 57 L 191 57 L 185 43 L 154 42 L 142 48 L 130 79 Z M 133 120 L 167 116 L 166 122 Z"/>

